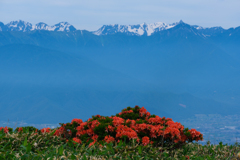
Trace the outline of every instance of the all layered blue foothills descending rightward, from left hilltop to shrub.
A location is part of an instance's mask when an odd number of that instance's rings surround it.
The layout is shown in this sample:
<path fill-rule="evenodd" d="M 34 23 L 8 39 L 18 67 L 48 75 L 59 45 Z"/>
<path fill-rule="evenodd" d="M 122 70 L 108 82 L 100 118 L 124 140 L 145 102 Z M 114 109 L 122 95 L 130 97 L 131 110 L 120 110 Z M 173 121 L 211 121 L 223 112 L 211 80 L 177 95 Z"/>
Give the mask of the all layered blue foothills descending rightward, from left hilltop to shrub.
<path fill-rule="evenodd" d="M 169 93 L 84 56 L 20 44 L 0 50 L 1 120 L 57 123 L 112 115 L 136 104 L 175 120 L 194 114 L 237 113 L 236 106 Z"/>

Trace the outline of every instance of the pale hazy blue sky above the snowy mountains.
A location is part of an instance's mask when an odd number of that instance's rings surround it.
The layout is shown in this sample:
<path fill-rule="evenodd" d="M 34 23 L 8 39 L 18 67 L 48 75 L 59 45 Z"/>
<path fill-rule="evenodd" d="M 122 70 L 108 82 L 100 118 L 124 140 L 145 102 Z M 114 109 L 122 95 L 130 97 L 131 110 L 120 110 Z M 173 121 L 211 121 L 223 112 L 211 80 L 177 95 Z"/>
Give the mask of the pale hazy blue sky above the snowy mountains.
<path fill-rule="evenodd" d="M 202 27 L 240 26 L 240 0 L 0 0 L 0 21 L 24 20 L 54 25 L 67 21 L 77 29 L 104 24 L 174 23 Z"/>

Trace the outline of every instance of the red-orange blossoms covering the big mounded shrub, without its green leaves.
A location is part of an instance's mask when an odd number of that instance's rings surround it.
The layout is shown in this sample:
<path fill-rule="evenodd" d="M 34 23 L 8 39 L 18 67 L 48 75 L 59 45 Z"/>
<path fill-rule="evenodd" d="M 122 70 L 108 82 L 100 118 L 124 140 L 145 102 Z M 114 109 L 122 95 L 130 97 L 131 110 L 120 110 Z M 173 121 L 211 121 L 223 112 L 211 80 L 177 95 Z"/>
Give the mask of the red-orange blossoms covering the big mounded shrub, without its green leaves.
<path fill-rule="evenodd" d="M 133 110 L 123 110 L 121 113 L 119 113 L 119 115 L 129 113 L 133 113 Z M 202 134 L 195 129 L 188 130 L 187 132 L 189 132 L 191 136 L 187 136 L 184 133 L 184 126 L 182 126 L 178 122 L 174 122 L 171 118 L 160 118 L 159 116 L 150 117 L 151 114 L 147 112 L 144 107 L 139 109 L 139 116 L 144 117 L 146 122 L 137 123 L 140 121 L 140 119 L 125 120 L 118 116 L 109 117 L 112 120 L 112 123 L 109 123 L 108 126 L 105 128 L 105 132 L 109 134 L 106 135 L 103 140 L 107 143 L 115 141 L 119 142 L 120 139 L 125 136 L 128 137 L 129 140 L 135 139 L 137 142 L 141 142 L 143 145 L 147 145 L 149 143 L 153 144 L 154 139 L 157 139 L 159 137 L 163 137 L 164 139 L 172 139 L 175 143 L 185 143 L 189 139 L 196 141 L 203 139 Z M 94 129 L 100 125 L 99 120 L 105 119 L 105 117 L 100 115 L 97 115 L 95 117 L 99 119 L 93 120 L 92 118 L 90 118 L 86 122 L 83 122 L 81 119 L 72 120 L 71 124 L 73 124 L 73 122 L 78 123 L 78 126 L 76 127 L 76 137 L 73 138 L 73 141 L 81 144 L 82 141 L 80 137 L 82 135 L 88 135 L 89 138 L 87 141 L 89 141 L 90 139 L 92 140 L 92 142 L 89 144 L 90 146 L 98 142 L 99 135 L 94 132 Z M 60 127 L 54 135 L 59 136 L 63 134 L 64 125 Z M 139 133 L 144 133 L 146 136 L 139 137 Z"/>

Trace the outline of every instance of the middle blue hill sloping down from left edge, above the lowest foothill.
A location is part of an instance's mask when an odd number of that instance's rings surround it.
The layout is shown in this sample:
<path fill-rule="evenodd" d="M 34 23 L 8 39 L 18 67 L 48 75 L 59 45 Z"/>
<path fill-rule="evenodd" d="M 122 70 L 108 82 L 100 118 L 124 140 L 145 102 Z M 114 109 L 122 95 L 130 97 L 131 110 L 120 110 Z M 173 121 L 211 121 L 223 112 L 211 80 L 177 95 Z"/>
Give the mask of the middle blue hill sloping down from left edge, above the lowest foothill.
<path fill-rule="evenodd" d="M 136 89 L 144 83 L 83 57 L 27 44 L 0 47 L 1 84 Z M 137 87 L 136 87 L 137 86 Z"/>

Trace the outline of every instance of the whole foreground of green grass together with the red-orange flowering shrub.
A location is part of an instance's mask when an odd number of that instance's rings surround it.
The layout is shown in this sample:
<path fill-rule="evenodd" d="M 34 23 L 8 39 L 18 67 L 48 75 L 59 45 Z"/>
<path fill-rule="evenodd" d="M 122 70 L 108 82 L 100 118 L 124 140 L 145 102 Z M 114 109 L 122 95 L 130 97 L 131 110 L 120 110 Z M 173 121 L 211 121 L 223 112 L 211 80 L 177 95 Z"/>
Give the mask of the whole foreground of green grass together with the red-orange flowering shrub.
<path fill-rule="evenodd" d="M 0 128 L 0 159 L 238 159 L 240 145 L 198 144 L 202 134 L 142 107 L 61 127 Z M 240 159 L 240 158 L 239 158 Z"/>

